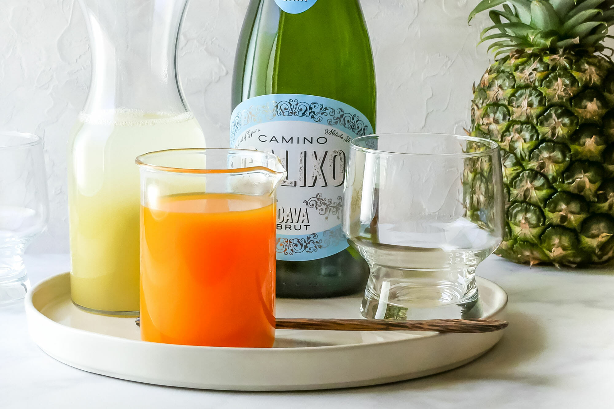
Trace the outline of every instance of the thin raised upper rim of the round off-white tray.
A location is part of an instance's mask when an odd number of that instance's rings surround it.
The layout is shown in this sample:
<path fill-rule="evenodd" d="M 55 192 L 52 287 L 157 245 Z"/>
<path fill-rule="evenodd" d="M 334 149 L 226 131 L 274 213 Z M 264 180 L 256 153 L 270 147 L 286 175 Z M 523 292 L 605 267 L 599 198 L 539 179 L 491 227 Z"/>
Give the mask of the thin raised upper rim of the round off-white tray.
<path fill-rule="evenodd" d="M 158 345 L 166 345 L 166 346 L 170 346 L 172 348 L 185 348 L 187 350 L 197 350 L 197 351 L 202 351 L 202 350 L 208 350 L 208 351 L 244 351 L 244 352 L 255 352 L 255 351 L 297 351 L 298 352 L 306 352 L 306 351 L 313 351 L 313 350 L 322 350 L 322 349 L 336 349 L 336 348 L 343 348 L 345 349 L 349 349 L 349 348 L 361 348 L 364 347 L 365 345 L 369 345 L 369 344 L 365 344 L 365 343 L 353 343 L 353 344 L 342 344 L 342 345 L 319 345 L 319 346 L 297 346 L 297 347 L 290 347 L 290 346 L 284 346 L 284 347 L 279 347 L 279 348 L 249 348 L 249 347 L 230 347 L 230 346 L 200 346 L 200 345 L 177 345 L 177 344 L 169 344 L 169 343 L 155 343 L 155 342 L 147 342 L 147 341 L 142 341 L 142 340 L 132 340 L 129 338 L 123 338 L 123 337 L 117 337 L 115 335 L 108 335 L 108 334 L 100 334 L 98 332 L 92 332 L 92 331 L 87 331 L 85 329 L 79 329 L 79 328 L 75 328 L 75 327 L 71 327 L 71 326 L 67 326 L 61 323 L 58 323 L 57 321 L 53 321 L 53 319 L 49 318 L 48 316 L 44 315 L 44 313 L 42 313 L 40 310 L 38 310 L 38 308 L 36 308 L 36 306 L 34 306 L 33 303 L 33 296 L 37 291 L 40 291 L 41 288 L 44 288 L 45 286 L 49 286 L 52 285 L 51 282 L 55 281 L 55 280 L 63 280 L 64 277 L 69 277 L 70 272 L 63 272 L 63 273 L 58 273 L 55 275 L 52 275 L 50 277 L 45 278 L 45 280 L 39 281 L 39 283 L 37 283 L 35 286 L 33 286 L 27 293 L 26 293 L 26 297 L 24 299 L 24 304 L 25 304 L 25 309 L 26 309 L 26 315 L 28 316 L 28 321 L 30 320 L 30 316 L 42 316 L 43 319 L 49 321 L 50 324 L 55 324 L 57 326 L 61 326 L 64 327 L 66 330 L 71 331 L 71 332 L 77 332 L 77 333 L 84 333 L 84 334 L 89 334 L 91 336 L 95 336 L 95 337 L 102 337 L 102 338 L 110 338 L 112 340 L 122 340 L 123 342 L 128 342 L 128 343 L 153 343 L 153 344 L 158 344 Z M 492 318 L 496 315 L 499 315 L 501 312 L 503 312 L 503 310 L 505 310 L 505 308 L 507 307 L 508 304 L 508 294 L 507 292 L 501 287 L 499 286 L 497 283 L 495 283 L 494 281 L 488 280 L 487 278 L 483 278 L 483 277 L 479 277 L 476 275 L 476 280 L 482 283 L 486 283 L 486 285 L 494 287 L 494 288 L 498 288 L 501 292 L 501 294 L 503 295 L 503 300 L 501 302 L 501 304 L 499 305 L 498 308 L 496 308 L 491 314 L 489 315 L 484 315 L 483 318 Z M 68 294 L 70 296 L 70 294 Z M 317 299 L 314 299 L 317 300 Z M 49 304 L 49 303 L 47 303 Z M 88 312 L 87 312 L 88 313 Z M 91 313 L 93 314 L 93 313 Z M 39 317 L 41 318 L 41 317 Z M 114 317 L 115 318 L 115 317 Z M 117 318 L 126 318 L 126 319 L 134 319 L 134 317 L 117 317 Z M 502 330 L 504 331 L 504 330 Z M 404 331 L 404 332 L 415 332 L 418 333 L 418 331 Z M 398 339 L 398 340 L 386 340 L 386 341 L 379 341 L 379 342 L 375 342 L 376 345 L 386 345 L 389 343 L 398 343 L 398 342 L 411 342 L 412 339 L 416 339 L 416 338 L 420 338 L 420 339 L 424 339 L 424 338 L 430 338 L 430 337 L 443 337 L 445 335 L 449 335 L 447 333 L 441 333 L 441 332 L 423 332 L 422 334 L 420 334 L 419 337 L 415 337 L 415 338 L 405 338 L 405 339 Z M 274 352 L 271 352 L 274 353 Z M 479 356 L 479 355 L 478 355 Z"/>

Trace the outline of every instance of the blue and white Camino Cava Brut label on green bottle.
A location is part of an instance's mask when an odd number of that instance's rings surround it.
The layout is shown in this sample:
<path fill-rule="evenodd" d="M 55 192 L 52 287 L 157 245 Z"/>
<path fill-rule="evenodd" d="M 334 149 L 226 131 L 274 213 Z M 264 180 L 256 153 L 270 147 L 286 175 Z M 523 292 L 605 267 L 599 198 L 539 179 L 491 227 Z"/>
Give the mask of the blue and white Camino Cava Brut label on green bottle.
<path fill-rule="evenodd" d="M 372 133 L 358 110 L 319 96 L 263 95 L 235 108 L 230 147 L 273 152 L 288 172 L 278 189 L 278 260 L 321 259 L 348 248 L 341 209 L 349 142 Z"/>

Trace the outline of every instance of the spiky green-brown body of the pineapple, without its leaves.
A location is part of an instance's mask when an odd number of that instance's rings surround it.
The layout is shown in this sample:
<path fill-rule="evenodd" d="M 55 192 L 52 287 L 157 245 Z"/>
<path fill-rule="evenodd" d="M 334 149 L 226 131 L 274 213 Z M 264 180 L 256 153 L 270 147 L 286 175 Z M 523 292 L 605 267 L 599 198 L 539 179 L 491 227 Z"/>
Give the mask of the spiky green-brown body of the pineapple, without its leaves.
<path fill-rule="evenodd" d="M 517 50 L 474 86 L 472 136 L 499 143 L 506 233 L 497 254 L 558 266 L 614 258 L 614 64 Z"/>

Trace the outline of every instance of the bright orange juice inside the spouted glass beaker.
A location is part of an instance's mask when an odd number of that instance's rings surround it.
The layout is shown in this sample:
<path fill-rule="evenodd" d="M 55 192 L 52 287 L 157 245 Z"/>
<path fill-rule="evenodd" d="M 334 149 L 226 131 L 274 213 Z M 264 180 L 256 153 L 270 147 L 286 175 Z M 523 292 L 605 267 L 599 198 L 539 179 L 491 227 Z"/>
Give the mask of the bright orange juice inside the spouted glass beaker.
<path fill-rule="evenodd" d="M 275 334 L 275 205 L 189 194 L 141 207 L 141 338 L 270 347 Z"/>

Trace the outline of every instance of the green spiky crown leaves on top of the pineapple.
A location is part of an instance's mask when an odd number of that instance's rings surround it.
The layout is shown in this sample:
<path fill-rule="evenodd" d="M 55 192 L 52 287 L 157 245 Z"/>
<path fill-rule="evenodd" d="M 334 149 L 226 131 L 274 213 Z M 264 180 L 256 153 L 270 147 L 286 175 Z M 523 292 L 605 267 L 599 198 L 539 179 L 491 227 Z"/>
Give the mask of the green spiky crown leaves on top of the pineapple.
<path fill-rule="evenodd" d="M 503 10 L 493 9 L 497 6 Z M 480 43 L 496 40 L 488 47 L 495 58 L 519 48 L 602 52 L 608 48 L 602 41 L 614 38 L 608 35 L 614 25 L 614 0 L 482 0 L 468 22 L 489 9 L 494 25 L 481 32 Z M 494 30 L 499 32 L 492 34 Z"/>

